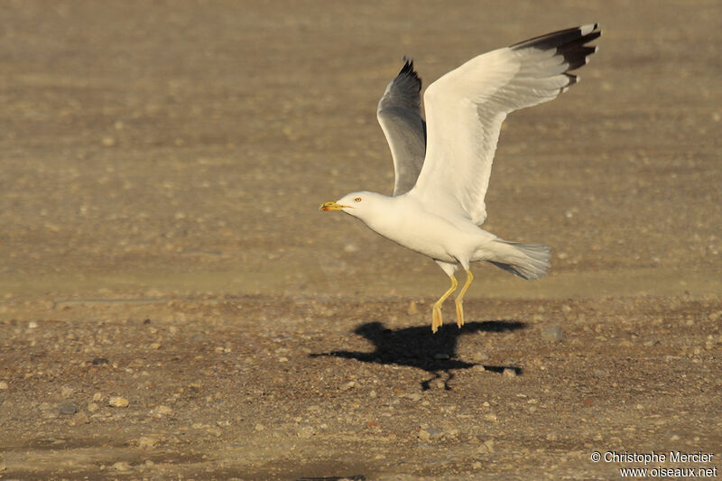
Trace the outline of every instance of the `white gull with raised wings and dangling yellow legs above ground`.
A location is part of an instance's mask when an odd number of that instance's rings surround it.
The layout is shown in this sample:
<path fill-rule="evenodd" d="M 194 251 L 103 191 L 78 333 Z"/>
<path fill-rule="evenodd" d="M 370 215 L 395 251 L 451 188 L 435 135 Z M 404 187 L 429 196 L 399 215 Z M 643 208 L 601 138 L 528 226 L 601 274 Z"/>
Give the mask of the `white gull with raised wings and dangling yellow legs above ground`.
<path fill-rule="evenodd" d="M 597 47 L 597 23 L 552 32 L 489 51 L 433 82 L 424 93 L 413 61 L 405 64 L 378 103 L 376 116 L 393 157 L 393 195 L 351 192 L 324 202 L 377 234 L 439 264 L 451 285 L 431 309 L 431 331 L 443 325 L 441 305 L 457 290 L 458 267 L 467 274 L 455 299 L 464 325 L 464 294 L 474 280 L 469 266 L 486 261 L 527 280 L 550 267 L 549 246 L 505 241 L 486 232 L 484 197 L 504 118 L 548 102 L 579 82 L 579 69 Z"/>

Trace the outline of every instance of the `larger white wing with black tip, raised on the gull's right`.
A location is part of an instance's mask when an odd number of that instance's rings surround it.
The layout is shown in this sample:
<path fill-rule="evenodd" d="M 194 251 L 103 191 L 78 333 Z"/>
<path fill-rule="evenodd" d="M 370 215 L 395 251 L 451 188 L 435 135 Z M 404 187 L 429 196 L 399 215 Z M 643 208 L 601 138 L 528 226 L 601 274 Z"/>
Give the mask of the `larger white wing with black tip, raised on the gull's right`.
<path fill-rule="evenodd" d="M 579 79 L 569 70 L 597 51 L 597 23 L 549 33 L 480 55 L 435 81 L 424 104 L 428 142 L 412 190 L 440 213 L 486 219 L 484 197 L 506 115 L 557 97 Z"/>

